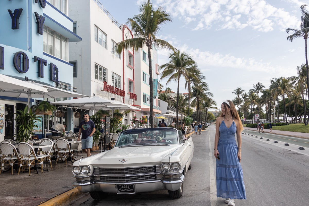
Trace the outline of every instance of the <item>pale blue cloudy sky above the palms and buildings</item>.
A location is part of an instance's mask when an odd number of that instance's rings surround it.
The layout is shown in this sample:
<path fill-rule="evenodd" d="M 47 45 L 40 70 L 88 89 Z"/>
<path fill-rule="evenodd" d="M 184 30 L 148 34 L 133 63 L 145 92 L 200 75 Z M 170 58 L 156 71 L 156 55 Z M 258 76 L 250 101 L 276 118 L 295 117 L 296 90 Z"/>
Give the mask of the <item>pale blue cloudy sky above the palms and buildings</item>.
<path fill-rule="evenodd" d="M 124 23 L 139 13 L 142 0 L 99 0 L 107 11 Z M 287 28 L 299 29 L 298 0 L 153 0 L 163 6 L 172 22 L 157 35 L 197 62 L 217 107 L 241 87 L 245 92 L 270 80 L 297 76 L 296 67 L 305 61 L 305 40 L 290 42 Z M 308 3 L 308 2 L 307 2 Z M 309 7 L 308 7 L 309 10 Z M 168 62 L 170 52 L 158 50 L 158 64 Z M 177 83 L 159 80 L 177 92 Z M 180 93 L 188 92 L 180 81 Z"/>

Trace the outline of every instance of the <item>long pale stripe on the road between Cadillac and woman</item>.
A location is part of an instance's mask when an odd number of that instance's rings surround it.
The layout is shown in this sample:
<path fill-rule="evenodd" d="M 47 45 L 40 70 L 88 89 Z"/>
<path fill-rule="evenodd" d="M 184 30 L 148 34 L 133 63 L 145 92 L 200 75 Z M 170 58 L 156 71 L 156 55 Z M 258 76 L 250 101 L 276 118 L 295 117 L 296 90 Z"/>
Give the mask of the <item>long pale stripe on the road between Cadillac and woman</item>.
<path fill-rule="evenodd" d="M 208 132 L 209 139 L 209 182 L 210 182 L 210 206 L 215 206 L 218 203 L 217 198 L 217 185 L 216 185 L 216 176 L 214 174 L 214 163 L 213 163 L 213 153 L 210 142 L 210 132 Z"/>

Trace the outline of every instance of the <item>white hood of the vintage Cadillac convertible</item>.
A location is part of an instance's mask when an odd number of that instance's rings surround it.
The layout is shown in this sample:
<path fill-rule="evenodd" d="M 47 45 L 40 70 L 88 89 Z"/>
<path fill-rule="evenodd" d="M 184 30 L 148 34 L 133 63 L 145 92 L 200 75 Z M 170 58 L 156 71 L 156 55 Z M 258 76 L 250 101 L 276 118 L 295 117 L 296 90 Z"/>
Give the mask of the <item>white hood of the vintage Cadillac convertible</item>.
<path fill-rule="evenodd" d="M 81 159 L 79 165 L 168 162 L 169 155 L 179 147 L 180 145 L 116 147 L 107 152 Z"/>

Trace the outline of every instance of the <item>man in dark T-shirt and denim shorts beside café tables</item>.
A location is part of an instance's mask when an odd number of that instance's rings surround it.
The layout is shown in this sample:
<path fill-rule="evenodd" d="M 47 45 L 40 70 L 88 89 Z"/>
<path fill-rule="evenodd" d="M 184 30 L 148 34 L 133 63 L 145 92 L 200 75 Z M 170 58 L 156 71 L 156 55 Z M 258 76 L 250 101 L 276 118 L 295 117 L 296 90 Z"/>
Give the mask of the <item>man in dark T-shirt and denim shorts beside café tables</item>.
<path fill-rule="evenodd" d="M 84 120 L 79 124 L 78 141 L 82 133 L 82 150 L 87 153 L 87 157 L 91 155 L 93 133 L 95 133 L 95 123 L 89 120 L 89 114 L 84 114 Z"/>

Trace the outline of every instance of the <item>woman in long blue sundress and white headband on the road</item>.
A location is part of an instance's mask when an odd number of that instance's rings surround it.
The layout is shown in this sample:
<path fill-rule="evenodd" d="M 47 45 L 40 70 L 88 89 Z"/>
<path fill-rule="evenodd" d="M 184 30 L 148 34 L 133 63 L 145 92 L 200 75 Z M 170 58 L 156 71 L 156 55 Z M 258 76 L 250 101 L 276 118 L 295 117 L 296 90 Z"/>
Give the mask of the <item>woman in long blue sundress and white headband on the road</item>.
<path fill-rule="evenodd" d="M 214 156 L 216 160 L 217 197 L 235 206 L 235 200 L 246 199 L 241 160 L 241 131 L 243 124 L 235 105 L 230 101 L 221 104 L 222 114 L 216 121 Z M 235 141 L 235 133 L 237 144 Z"/>

